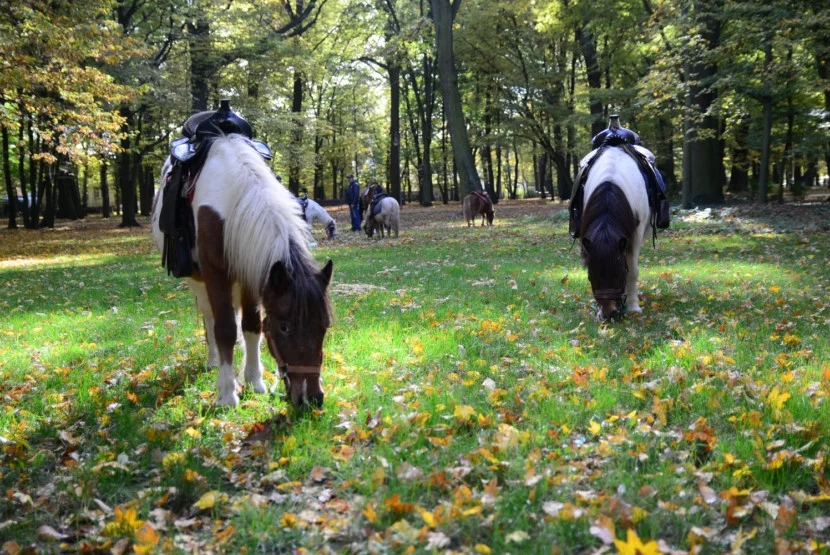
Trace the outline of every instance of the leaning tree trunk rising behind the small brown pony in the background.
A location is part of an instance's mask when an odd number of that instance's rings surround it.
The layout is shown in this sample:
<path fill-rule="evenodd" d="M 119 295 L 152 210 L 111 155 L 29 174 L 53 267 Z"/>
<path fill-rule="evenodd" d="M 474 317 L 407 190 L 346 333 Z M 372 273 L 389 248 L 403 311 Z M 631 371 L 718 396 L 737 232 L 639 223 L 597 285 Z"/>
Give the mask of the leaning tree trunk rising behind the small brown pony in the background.
<path fill-rule="evenodd" d="M 472 191 L 480 191 L 481 182 L 476 171 L 473 151 L 470 148 L 470 138 L 467 135 L 453 54 L 452 22 L 461 0 L 454 0 L 452 6 L 449 0 L 431 0 L 431 2 L 432 17 L 435 22 L 435 41 L 438 47 L 438 74 L 441 77 L 441 91 L 444 96 L 452 140 L 453 171 L 457 172 L 460 178 L 459 192 L 456 196 L 463 198 Z"/>

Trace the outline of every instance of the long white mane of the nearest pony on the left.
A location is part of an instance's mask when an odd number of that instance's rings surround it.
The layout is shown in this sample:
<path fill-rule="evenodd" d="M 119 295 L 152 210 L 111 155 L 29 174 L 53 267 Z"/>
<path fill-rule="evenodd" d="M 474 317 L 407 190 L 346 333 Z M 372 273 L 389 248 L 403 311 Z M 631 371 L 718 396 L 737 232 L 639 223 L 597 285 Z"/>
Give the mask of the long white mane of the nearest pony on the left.
<path fill-rule="evenodd" d="M 313 279 L 315 265 L 308 250 L 309 232 L 302 212 L 288 190 L 241 135 L 214 139 L 209 156 L 233 161 L 226 173 L 230 191 L 225 212 L 224 252 L 228 267 L 250 291 L 262 292 L 276 262 L 296 275 Z"/>

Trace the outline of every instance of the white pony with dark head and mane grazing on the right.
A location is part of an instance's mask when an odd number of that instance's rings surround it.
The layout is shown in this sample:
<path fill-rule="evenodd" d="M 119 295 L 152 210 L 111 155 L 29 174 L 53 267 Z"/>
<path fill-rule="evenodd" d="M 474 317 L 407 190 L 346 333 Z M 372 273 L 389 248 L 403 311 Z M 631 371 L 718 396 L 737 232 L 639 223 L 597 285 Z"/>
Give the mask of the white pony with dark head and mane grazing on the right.
<path fill-rule="evenodd" d="M 651 212 L 637 163 L 619 148 L 605 148 L 588 174 L 584 202 L 581 253 L 597 316 L 608 320 L 623 310 L 642 312 L 637 264 Z"/>

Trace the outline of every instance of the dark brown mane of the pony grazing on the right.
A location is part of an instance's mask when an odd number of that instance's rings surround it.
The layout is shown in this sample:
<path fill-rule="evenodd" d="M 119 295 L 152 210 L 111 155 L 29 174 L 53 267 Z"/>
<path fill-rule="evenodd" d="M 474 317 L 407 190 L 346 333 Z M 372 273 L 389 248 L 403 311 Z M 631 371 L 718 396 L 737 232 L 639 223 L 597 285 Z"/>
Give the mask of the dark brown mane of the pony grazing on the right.
<path fill-rule="evenodd" d="M 580 230 L 581 236 L 591 243 L 589 263 L 595 262 L 597 271 L 610 268 L 607 262 L 617 257 L 620 239 L 626 239 L 627 248 L 631 248 L 637 224 L 622 189 L 610 181 L 597 185 L 585 205 Z M 586 257 L 584 248 L 582 255 Z"/>

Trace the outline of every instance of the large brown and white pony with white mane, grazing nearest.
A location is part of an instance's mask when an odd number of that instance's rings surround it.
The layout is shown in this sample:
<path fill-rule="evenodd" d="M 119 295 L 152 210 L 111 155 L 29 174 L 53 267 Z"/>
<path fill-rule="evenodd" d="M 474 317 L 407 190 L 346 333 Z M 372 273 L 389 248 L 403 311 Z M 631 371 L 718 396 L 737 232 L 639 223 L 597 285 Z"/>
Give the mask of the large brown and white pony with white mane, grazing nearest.
<path fill-rule="evenodd" d="M 244 376 L 253 390 L 266 391 L 260 362 L 264 331 L 291 403 L 319 406 L 332 263 L 317 269 L 299 206 L 247 139 L 232 134 L 211 140 L 191 201 L 198 270 L 186 281 L 204 315 L 208 366 L 219 367 L 216 404 L 239 404 L 233 350 L 241 324 Z M 169 171 L 168 159 L 162 183 Z M 160 250 L 163 198 L 156 197 L 152 224 Z"/>

